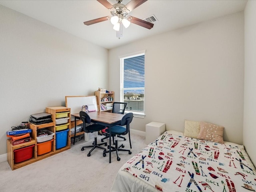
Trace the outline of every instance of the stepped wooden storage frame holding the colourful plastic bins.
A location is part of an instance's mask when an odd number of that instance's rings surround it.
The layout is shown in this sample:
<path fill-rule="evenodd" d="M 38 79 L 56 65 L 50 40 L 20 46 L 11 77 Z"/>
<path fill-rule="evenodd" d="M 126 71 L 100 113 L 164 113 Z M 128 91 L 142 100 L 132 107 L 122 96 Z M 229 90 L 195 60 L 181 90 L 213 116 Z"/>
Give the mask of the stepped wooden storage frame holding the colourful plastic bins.
<path fill-rule="evenodd" d="M 67 145 L 63 148 L 60 149 L 56 149 L 56 134 L 54 134 L 54 141 L 52 142 L 52 150 L 46 154 L 42 154 L 40 156 L 37 155 L 37 141 L 36 141 L 36 136 L 37 136 L 37 130 L 39 129 L 48 129 L 51 132 L 56 133 L 56 123 L 55 123 L 55 119 L 56 119 L 56 113 L 58 112 L 70 112 L 70 108 L 67 107 L 47 107 L 46 108 L 46 112 L 52 114 L 52 121 L 51 123 L 46 123 L 46 124 L 40 124 L 40 125 L 36 125 L 36 124 L 29 124 L 29 128 L 32 129 L 32 133 L 31 133 L 31 141 L 30 142 L 26 142 L 26 143 L 22 143 L 22 144 L 18 144 L 18 145 L 12 145 L 12 142 L 10 139 L 7 140 L 7 161 L 10 165 L 10 167 L 12 168 L 12 170 L 18 169 L 20 167 L 26 166 L 28 164 L 31 164 L 33 162 L 42 160 L 44 158 L 50 157 L 54 154 L 63 152 L 65 150 L 70 149 L 70 119 L 68 120 L 69 125 L 68 125 L 68 140 L 67 140 Z M 70 113 L 68 113 L 68 117 L 70 118 Z M 24 162 L 20 162 L 20 163 L 14 163 L 14 150 L 16 149 L 20 149 L 20 148 L 24 148 L 26 146 L 30 146 L 30 145 L 34 145 L 34 149 L 33 149 L 33 156 L 31 159 L 26 160 Z"/>

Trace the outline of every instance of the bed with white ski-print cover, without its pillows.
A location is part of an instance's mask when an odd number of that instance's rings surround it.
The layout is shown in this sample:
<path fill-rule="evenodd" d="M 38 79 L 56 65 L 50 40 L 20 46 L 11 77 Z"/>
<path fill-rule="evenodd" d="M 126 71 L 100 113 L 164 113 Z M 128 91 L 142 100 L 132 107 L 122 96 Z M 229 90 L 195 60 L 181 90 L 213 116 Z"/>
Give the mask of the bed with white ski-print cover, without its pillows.
<path fill-rule="evenodd" d="M 120 168 L 111 191 L 249 192 L 255 189 L 256 170 L 244 146 L 166 131 Z"/>

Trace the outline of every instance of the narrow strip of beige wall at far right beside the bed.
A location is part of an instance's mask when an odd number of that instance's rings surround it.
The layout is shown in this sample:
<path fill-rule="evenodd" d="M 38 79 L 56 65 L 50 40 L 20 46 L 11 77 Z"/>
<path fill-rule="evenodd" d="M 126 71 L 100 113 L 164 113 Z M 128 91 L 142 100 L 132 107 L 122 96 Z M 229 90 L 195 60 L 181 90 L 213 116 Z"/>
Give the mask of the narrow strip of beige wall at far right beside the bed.
<path fill-rule="evenodd" d="M 244 137 L 243 144 L 256 165 L 256 1 L 244 10 Z"/>

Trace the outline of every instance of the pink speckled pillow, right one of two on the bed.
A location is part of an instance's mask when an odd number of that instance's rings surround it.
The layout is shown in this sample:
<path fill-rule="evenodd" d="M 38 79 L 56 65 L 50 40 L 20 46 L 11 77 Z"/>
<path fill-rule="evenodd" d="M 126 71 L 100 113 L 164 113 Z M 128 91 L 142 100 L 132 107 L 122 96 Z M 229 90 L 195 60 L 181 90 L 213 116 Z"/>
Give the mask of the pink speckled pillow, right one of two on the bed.
<path fill-rule="evenodd" d="M 201 122 L 200 132 L 197 138 L 223 144 L 223 130 L 223 126 L 218 126 L 207 122 Z"/>

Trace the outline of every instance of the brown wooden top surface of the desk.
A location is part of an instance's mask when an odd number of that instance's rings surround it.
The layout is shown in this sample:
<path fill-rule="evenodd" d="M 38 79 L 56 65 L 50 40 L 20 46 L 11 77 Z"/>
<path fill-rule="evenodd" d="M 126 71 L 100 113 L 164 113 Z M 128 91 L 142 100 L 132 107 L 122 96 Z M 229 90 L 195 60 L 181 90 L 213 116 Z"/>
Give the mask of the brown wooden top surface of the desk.
<path fill-rule="evenodd" d="M 80 117 L 79 113 L 71 114 L 71 115 L 75 117 Z M 107 124 L 118 122 L 124 116 L 124 114 L 110 113 L 110 112 L 103 112 L 103 111 L 89 112 L 88 115 L 94 121 L 103 122 Z"/>

